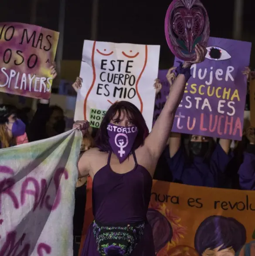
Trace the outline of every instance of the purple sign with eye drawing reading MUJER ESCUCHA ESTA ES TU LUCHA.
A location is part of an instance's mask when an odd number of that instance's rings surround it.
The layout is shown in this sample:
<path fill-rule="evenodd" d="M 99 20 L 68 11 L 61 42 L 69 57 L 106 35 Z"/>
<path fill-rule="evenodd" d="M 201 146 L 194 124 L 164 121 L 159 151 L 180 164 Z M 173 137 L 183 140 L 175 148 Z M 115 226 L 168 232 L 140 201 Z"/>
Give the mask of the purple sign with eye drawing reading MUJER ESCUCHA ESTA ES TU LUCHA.
<path fill-rule="evenodd" d="M 172 131 L 241 140 L 252 44 L 210 38 L 204 62 L 191 67 Z M 174 66 L 179 59 L 175 59 Z"/>

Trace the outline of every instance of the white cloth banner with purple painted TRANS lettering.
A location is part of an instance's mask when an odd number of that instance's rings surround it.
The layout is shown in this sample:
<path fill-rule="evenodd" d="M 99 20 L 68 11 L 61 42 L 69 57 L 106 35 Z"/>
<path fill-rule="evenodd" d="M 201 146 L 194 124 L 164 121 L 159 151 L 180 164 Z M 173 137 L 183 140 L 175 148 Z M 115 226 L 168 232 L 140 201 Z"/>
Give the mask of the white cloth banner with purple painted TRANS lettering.
<path fill-rule="evenodd" d="M 81 141 L 72 130 L 0 150 L 0 256 L 73 255 Z"/>

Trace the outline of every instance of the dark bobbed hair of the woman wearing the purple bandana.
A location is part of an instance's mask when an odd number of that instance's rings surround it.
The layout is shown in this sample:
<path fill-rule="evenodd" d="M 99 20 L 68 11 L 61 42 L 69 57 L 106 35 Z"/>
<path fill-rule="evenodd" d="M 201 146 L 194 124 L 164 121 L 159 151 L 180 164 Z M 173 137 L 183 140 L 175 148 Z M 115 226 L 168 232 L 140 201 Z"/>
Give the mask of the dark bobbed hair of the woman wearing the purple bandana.
<path fill-rule="evenodd" d="M 121 111 L 125 111 L 126 115 L 133 121 L 133 124 L 136 125 L 138 128 L 136 141 L 132 148 L 133 150 L 139 148 L 140 145 L 143 145 L 145 138 L 149 134 L 149 130 L 143 118 L 143 115 L 134 104 L 128 101 L 116 102 L 112 104 L 112 106 L 106 112 L 99 127 L 99 131 L 97 132 L 97 135 L 95 137 L 95 143 L 97 147 L 104 152 L 111 151 L 111 147 L 108 141 L 109 136 L 107 132 L 107 125 L 116 114 L 118 114 L 117 118 L 120 118 Z"/>

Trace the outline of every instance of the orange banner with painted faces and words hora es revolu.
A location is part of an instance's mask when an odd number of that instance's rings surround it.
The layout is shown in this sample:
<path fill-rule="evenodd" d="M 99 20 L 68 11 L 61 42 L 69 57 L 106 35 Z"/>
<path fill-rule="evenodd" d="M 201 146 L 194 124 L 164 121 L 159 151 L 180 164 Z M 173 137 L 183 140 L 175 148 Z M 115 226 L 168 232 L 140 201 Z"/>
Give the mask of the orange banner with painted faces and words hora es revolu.
<path fill-rule="evenodd" d="M 254 202 L 255 191 L 153 180 L 147 219 L 153 228 L 156 255 L 216 256 L 218 252 L 235 256 L 255 239 Z M 92 189 L 87 204 L 83 241 L 87 223 L 93 221 L 88 212 L 92 212 Z"/>

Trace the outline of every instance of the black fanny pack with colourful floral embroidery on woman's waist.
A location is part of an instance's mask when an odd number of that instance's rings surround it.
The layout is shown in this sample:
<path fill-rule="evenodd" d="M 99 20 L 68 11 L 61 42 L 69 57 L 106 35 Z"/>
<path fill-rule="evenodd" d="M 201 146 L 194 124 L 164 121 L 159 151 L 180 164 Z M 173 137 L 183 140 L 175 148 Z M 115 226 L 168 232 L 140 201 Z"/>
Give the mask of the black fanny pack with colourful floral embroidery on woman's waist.
<path fill-rule="evenodd" d="M 93 222 L 97 250 L 101 256 L 129 256 L 143 235 L 145 222 L 105 226 Z"/>

